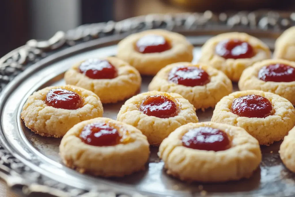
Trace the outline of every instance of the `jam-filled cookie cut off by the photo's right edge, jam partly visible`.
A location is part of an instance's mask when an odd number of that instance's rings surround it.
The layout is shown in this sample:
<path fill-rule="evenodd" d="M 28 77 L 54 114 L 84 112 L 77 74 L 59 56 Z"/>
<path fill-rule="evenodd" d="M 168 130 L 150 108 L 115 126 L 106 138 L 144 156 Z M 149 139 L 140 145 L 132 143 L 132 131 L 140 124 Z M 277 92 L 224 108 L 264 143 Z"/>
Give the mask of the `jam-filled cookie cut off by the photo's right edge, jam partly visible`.
<path fill-rule="evenodd" d="M 272 92 L 295 105 L 295 62 L 282 59 L 257 62 L 244 70 L 239 89 Z"/>

